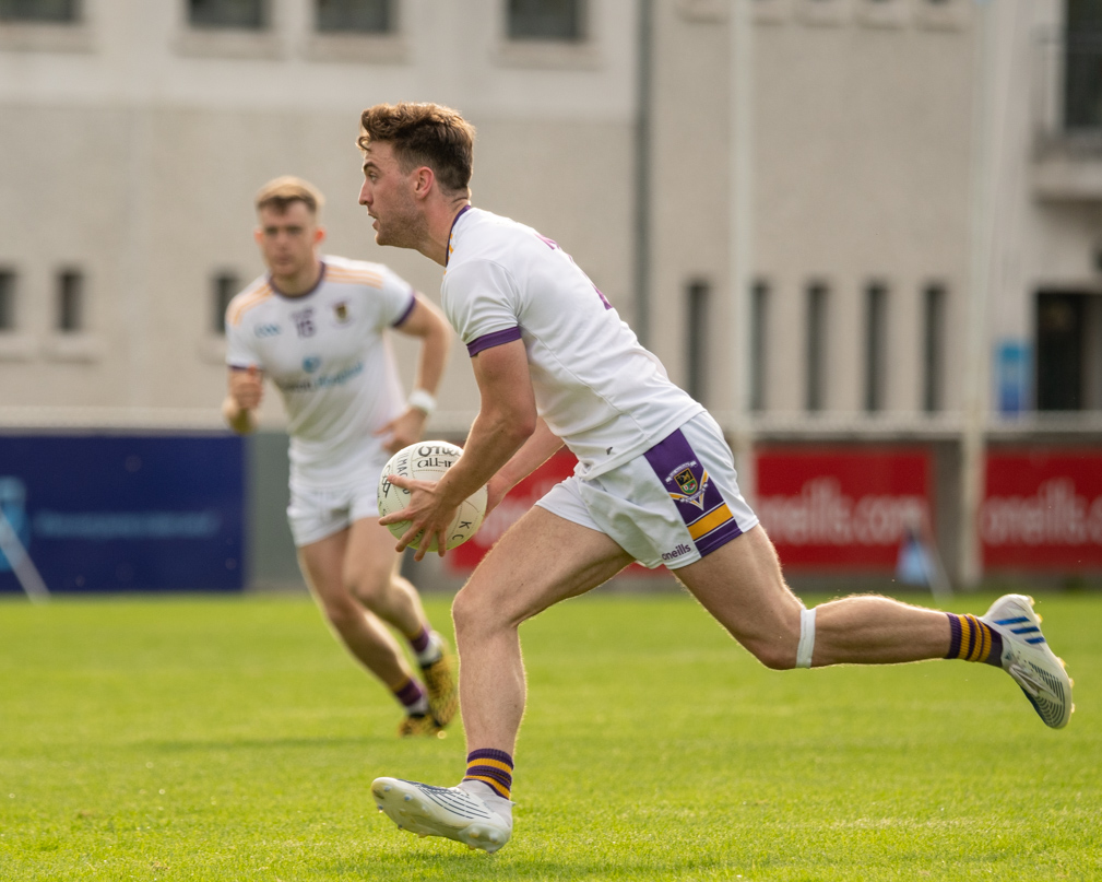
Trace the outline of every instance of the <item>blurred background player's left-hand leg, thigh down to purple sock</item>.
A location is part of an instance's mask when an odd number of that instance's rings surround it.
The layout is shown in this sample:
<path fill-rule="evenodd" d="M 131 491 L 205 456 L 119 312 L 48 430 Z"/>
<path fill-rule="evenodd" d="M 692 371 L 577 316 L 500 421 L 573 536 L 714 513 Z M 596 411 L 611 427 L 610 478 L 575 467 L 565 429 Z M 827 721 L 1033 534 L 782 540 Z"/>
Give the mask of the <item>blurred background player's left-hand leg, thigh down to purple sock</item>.
<path fill-rule="evenodd" d="M 299 563 L 306 583 L 334 633 L 353 657 L 393 693 L 404 708 L 407 719 L 420 716 L 431 723 L 429 698 L 398 642 L 346 587 L 344 567 L 348 535 L 349 530 L 343 529 L 299 549 Z M 392 547 L 388 550 L 392 556 Z M 403 734 L 436 734 L 439 730 L 439 725 L 432 724 L 425 725 L 424 731 Z"/>

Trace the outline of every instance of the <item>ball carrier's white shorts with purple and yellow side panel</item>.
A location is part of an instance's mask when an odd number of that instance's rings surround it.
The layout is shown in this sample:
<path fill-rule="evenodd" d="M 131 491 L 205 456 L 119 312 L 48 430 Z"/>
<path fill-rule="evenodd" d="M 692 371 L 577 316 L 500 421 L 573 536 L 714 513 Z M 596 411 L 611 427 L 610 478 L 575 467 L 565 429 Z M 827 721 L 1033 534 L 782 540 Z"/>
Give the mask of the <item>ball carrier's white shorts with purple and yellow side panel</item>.
<path fill-rule="evenodd" d="M 687 567 L 758 523 L 709 413 L 618 469 L 587 480 L 571 475 L 537 505 L 605 534 L 650 569 Z"/>

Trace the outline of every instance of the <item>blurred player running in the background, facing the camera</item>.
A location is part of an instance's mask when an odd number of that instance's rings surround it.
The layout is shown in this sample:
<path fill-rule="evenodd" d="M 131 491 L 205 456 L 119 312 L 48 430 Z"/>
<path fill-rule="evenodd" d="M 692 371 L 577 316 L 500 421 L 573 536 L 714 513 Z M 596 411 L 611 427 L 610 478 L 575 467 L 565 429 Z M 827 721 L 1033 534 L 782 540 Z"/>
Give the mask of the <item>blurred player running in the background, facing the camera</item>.
<path fill-rule="evenodd" d="M 451 331 L 381 263 L 320 256 L 322 202 L 295 178 L 257 194 L 256 239 L 269 272 L 226 311 L 223 415 L 235 431 L 250 432 L 264 377 L 279 389 L 290 419 L 288 518 L 303 576 L 341 641 L 404 708 L 399 734 L 442 735 L 456 710 L 453 658 L 399 573 L 376 493 L 391 453 L 421 437 Z M 408 401 L 389 329 L 421 342 Z M 386 625 L 409 642 L 420 677 Z"/>

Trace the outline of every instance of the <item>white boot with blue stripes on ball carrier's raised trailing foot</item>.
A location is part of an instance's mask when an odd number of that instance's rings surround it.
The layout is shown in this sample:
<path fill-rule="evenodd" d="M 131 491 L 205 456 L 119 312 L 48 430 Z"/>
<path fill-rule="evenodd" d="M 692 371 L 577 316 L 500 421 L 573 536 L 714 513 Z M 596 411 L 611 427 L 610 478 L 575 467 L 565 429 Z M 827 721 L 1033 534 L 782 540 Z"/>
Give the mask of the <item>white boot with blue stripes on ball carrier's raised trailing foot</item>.
<path fill-rule="evenodd" d="M 1040 616 L 1034 612 L 1033 598 L 1005 594 L 980 621 L 1003 638 L 1003 670 L 1022 687 L 1045 725 L 1062 729 L 1076 706 L 1071 703 L 1071 678 L 1063 660 L 1049 648 L 1040 633 Z"/>

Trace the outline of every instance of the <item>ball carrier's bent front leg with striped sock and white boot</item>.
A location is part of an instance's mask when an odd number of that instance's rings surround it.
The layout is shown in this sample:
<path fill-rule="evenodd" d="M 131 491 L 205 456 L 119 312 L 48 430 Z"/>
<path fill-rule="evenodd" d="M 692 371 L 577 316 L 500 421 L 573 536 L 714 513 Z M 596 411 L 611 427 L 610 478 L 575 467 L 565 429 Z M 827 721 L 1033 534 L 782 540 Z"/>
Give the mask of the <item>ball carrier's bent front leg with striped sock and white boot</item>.
<path fill-rule="evenodd" d="M 371 794 L 401 829 L 496 851 L 512 833 L 512 754 L 525 711 L 518 627 L 615 576 L 630 557 L 602 533 L 533 507 L 456 595 L 460 709 L 467 771 L 455 787 L 377 778 Z"/>

